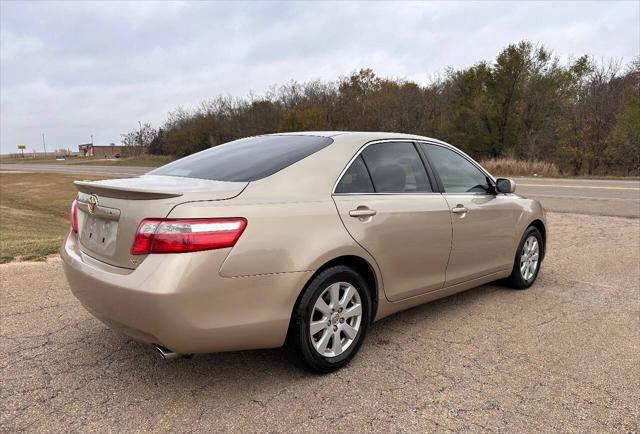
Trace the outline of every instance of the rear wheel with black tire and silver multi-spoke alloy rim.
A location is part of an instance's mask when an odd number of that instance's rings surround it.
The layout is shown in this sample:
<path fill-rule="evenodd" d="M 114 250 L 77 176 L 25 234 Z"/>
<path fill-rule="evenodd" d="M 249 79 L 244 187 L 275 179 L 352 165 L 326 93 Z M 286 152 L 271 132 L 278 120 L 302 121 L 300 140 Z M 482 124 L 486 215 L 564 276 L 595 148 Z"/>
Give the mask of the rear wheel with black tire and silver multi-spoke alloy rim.
<path fill-rule="evenodd" d="M 318 274 L 293 310 L 286 343 L 293 361 L 320 373 L 348 364 L 362 345 L 372 305 L 367 283 L 353 269 L 338 265 Z"/>

